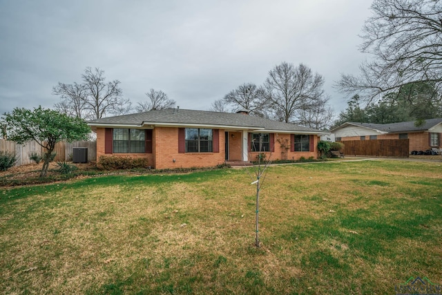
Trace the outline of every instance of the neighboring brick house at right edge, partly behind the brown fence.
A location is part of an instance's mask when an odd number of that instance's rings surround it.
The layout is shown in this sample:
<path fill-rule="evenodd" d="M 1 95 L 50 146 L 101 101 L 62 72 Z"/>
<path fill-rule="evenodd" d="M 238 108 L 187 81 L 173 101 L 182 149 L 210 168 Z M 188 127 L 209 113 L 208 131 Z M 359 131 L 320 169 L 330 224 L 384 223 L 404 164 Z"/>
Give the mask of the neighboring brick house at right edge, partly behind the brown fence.
<path fill-rule="evenodd" d="M 421 126 L 414 121 L 391 124 L 347 122 L 330 131 L 336 141 L 347 140 L 397 140 L 408 139 L 411 151 L 439 148 L 441 144 L 442 118 L 425 120 Z"/>

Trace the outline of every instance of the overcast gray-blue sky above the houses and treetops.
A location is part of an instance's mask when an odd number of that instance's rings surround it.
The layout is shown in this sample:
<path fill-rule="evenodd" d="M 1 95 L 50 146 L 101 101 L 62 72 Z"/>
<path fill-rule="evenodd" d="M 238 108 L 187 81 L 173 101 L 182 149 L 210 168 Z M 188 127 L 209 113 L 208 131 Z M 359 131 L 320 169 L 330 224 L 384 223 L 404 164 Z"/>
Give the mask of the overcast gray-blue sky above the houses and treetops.
<path fill-rule="evenodd" d="M 240 84 L 262 84 L 282 61 L 332 85 L 357 73 L 372 0 L 0 0 L 0 114 L 52 108 L 58 82 L 81 82 L 87 66 L 119 79 L 133 104 L 150 88 L 180 108 L 207 110 Z"/>

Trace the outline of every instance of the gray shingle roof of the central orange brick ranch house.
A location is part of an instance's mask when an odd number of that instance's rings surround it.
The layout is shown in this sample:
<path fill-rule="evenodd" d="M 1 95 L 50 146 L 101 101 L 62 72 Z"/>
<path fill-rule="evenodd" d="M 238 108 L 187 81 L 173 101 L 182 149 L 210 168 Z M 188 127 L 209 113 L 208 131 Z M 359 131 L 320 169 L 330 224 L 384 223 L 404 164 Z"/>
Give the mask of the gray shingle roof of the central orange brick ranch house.
<path fill-rule="evenodd" d="M 119 115 L 115 117 L 104 117 L 91 120 L 90 126 L 106 125 L 161 125 L 176 124 L 186 126 L 189 124 L 231 126 L 244 129 L 264 129 L 269 131 L 298 131 L 309 133 L 325 133 L 318 129 L 311 129 L 294 124 L 268 120 L 261 117 L 244 115 L 238 113 L 219 113 L 211 111 L 193 111 L 186 109 L 167 108 L 164 110 L 148 111 L 130 115 Z"/>

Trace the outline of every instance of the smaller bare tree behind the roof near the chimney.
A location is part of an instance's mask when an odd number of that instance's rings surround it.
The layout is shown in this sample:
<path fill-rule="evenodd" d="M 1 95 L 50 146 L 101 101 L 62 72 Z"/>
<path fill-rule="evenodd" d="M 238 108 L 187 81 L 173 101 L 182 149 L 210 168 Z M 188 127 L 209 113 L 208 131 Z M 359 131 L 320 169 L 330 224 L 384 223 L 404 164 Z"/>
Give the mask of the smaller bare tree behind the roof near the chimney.
<path fill-rule="evenodd" d="M 264 94 L 262 87 L 258 87 L 253 83 L 245 83 L 229 92 L 222 100 L 225 104 L 232 106 L 233 111 L 245 108 L 250 115 L 265 117 L 267 102 Z"/>

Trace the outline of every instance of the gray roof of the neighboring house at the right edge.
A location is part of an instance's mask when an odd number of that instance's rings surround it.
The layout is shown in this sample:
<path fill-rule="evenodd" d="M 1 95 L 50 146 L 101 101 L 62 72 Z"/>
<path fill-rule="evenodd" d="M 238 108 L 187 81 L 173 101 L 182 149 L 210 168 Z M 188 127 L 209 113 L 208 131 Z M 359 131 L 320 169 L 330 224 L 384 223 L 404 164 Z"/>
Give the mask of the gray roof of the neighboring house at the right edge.
<path fill-rule="evenodd" d="M 345 124 L 352 124 L 355 126 L 362 126 L 369 129 L 376 129 L 380 131 L 385 131 L 388 133 L 398 133 L 398 132 L 416 132 L 416 131 L 426 131 L 437 124 L 440 124 L 442 122 L 442 118 L 436 118 L 436 119 L 427 119 L 425 120 L 424 124 L 421 126 L 415 126 L 414 123 L 416 121 L 409 121 L 409 122 L 398 122 L 398 123 L 390 123 L 390 124 L 373 124 L 373 123 L 359 123 L 359 122 L 347 122 Z M 344 124 L 343 124 L 344 125 Z M 341 126 L 343 126 L 341 125 Z M 339 129 L 339 127 L 332 130 L 335 131 L 336 129 Z"/>

